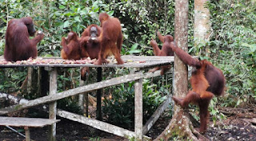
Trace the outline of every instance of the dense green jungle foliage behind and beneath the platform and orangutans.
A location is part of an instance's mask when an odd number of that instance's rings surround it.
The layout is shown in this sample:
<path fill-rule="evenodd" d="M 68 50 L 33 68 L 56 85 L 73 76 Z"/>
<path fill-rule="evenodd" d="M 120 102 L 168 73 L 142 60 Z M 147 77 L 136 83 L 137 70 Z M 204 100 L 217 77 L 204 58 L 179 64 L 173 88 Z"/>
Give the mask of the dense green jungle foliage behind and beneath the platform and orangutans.
<path fill-rule="evenodd" d="M 21 0 L 1 0 L 0 1 L 0 55 L 3 54 L 5 46 L 5 32 L 7 22 L 12 18 L 22 18 L 30 16 L 34 18 L 36 29 L 42 30 L 46 36 L 38 45 L 38 56 L 59 57 L 61 37 L 66 36 L 70 30 L 82 33 L 87 25 L 99 24 L 98 13 L 106 11 L 108 14 L 117 17 L 122 22 L 124 33 L 124 43 L 122 54 L 153 55 L 150 47 L 150 38 L 155 37 L 155 30 L 161 33 L 174 35 L 174 0 L 57 0 L 57 1 L 21 1 Z M 210 9 L 212 22 L 212 36 L 205 44 L 194 46 L 194 1 L 190 0 L 190 24 L 189 24 L 189 47 L 191 54 L 198 54 L 206 45 L 210 46 L 210 57 L 203 57 L 210 60 L 215 66 L 222 69 L 226 76 L 226 98 L 222 99 L 222 106 L 237 106 L 242 102 L 256 99 L 256 6 L 254 0 L 240 0 L 238 2 L 230 0 L 211 1 L 207 6 Z M 159 43 L 159 41 L 158 41 Z M 78 73 L 78 70 L 68 70 Z M 115 69 L 116 71 L 116 69 Z M 127 71 L 118 70 L 116 73 L 108 72 L 103 79 L 115 76 Z M 163 76 L 154 80 L 158 81 L 154 85 L 151 81 L 146 81 L 144 87 L 151 88 L 146 92 L 145 97 L 148 104 L 158 106 L 162 99 L 158 96 L 165 96 L 170 92 L 171 75 Z M 17 92 L 22 81 L 26 78 L 26 69 L 1 69 L 0 72 L 0 92 Z M 167 78 L 167 79 L 166 79 Z M 78 86 L 78 75 L 72 77 L 59 76 L 59 80 L 73 80 L 74 87 Z M 91 78 L 93 81 L 93 78 Z M 161 81 L 160 81 L 161 80 Z M 165 85 L 165 82 L 168 85 Z M 58 85 L 59 91 L 65 89 L 62 83 Z M 67 86 L 66 86 L 67 87 Z M 154 90 L 161 89 L 161 91 Z M 118 87 L 113 96 L 128 98 L 132 95 L 132 83 Z M 108 91 L 108 90 L 106 90 Z M 160 93 L 161 95 L 156 95 Z M 118 98 L 113 101 L 106 101 L 105 110 L 116 108 L 111 104 L 122 104 Z M 152 97 L 155 101 L 152 101 Z M 128 102 L 133 100 L 128 100 Z M 214 99 L 217 102 L 217 99 Z M 211 114 L 215 115 L 216 108 L 214 102 L 211 106 Z M 129 103 L 122 104 L 130 107 Z M 149 106 L 150 107 L 150 106 Z M 117 107 L 119 108 L 119 107 Z M 151 107 L 150 107 L 151 108 Z M 154 111 L 154 109 L 144 109 L 144 111 Z M 120 117 L 127 118 L 130 112 L 120 112 L 122 116 L 109 119 L 110 122 Z M 113 114 L 110 111 L 108 116 Z M 125 123 L 132 123 L 129 117 L 123 119 Z M 119 120 L 119 119 L 118 119 Z M 131 125 L 131 124 L 130 124 Z"/>

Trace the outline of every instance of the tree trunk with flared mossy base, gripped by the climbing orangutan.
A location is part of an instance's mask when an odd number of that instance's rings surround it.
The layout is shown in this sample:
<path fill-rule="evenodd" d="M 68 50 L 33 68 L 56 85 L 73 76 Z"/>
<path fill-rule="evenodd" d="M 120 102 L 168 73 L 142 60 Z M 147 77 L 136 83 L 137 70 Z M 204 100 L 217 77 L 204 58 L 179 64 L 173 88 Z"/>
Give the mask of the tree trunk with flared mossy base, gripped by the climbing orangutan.
<path fill-rule="evenodd" d="M 175 25 L 174 37 L 178 47 L 187 51 L 188 49 L 188 6 L 187 0 L 175 0 Z M 174 55 L 174 96 L 185 97 L 188 92 L 188 73 L 185 65 L 176 55 Z M 189 119 L 189 113 L 177 105 L 174 106 L 174 116 L 165 131 L 155 140 L 168 140 L 173 135 L 178 135 L 179 139 L 198 140 L 194 135 L 198 131 Z"/>

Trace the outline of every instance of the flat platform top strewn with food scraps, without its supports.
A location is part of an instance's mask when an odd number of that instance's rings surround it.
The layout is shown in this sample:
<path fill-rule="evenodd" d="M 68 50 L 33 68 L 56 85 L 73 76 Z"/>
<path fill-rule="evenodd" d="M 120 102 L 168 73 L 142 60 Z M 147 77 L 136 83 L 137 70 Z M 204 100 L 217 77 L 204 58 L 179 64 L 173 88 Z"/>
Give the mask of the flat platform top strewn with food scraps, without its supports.
<path fill-rule="evenodd" d="M 84 59 L 78 61 L 63 60 L 61 57 L 38 57 L 37 59 L 29 59 L 28 61 L 6 62 L 3 57 L 0 57 L 0 68 L 14 67 L 93 67 L 93 68 L 152 68 L 159 65 L 168 65 L 174 61 L 174 57 L 159 57 L 159 56 L 122 56 L 122 60 L 126 63 L 117 65 L 113 61 L 108 65 L 94 65 L 95 60 Z"/>

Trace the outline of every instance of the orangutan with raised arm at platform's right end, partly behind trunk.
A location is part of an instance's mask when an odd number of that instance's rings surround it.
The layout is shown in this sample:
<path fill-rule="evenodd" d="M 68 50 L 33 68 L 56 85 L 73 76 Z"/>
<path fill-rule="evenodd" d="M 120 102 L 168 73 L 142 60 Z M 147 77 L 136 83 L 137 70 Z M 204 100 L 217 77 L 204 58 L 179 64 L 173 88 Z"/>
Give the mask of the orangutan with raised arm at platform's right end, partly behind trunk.
<path fill-rule="evenodd" d="M 150 45 L 154 49 L 155 56 L 174 56 L 173 50 L 170 48 L 170 43 L 174 41 L 174 37 L 170 35 L 162 36 L 159 32 L 157 32 L 158 38 L 162 41 L 162 50 L 158 48 L 158 44 L 153 39 L 150 41 Z M 156 70 L 160 69 L 160 67 L 156 67 L 154 69 L 150 69 L 149 72 L 155 72 Z M 164 65 L 161 67 L 161 75 L 166 73 L 170 69 L 170 65 Z"/>

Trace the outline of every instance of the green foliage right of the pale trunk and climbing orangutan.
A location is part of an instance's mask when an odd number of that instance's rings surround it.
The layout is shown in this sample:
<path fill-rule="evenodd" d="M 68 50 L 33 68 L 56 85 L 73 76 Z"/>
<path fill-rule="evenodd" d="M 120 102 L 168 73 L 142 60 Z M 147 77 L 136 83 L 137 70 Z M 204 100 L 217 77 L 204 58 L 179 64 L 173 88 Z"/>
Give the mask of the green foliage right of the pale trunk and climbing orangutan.
<path fill-rule="evenodd" d="M 225 105 L 256 98 L 256 6 L 255 1 L 210 3 L 211 61 L 226 76 Z"/>

